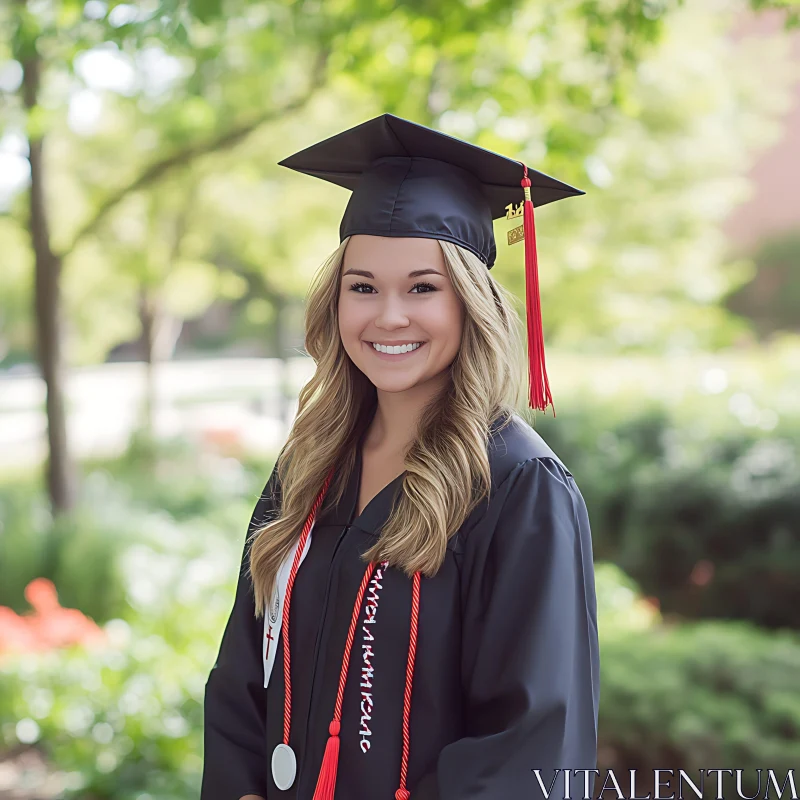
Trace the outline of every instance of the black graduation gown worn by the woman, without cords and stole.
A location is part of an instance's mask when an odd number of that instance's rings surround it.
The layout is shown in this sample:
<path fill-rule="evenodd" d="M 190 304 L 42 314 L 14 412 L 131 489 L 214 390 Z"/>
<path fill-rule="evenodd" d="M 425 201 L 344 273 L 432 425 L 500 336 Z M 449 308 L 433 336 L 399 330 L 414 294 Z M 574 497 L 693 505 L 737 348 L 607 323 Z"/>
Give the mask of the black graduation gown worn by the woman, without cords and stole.
<path fill-rule="evenodd" d="M 495 426 L 496 427 L 496 426 Z M 575 481 L 521 417 L 489 441 L 492 494 L 423 578 L 410 716 L 411 800 L 564 797 L 563 770 L 596 767 L 597 607 L 589 518 Z M 360 448 L 359 448 L 360 453 Z M 201 800 L 312 800 L 365 564 L 402 476 L 354 518 L 360 455 L 343 500 L 323 503 L 291 605 L 297 777 L 275 786 L 283 737 L 283 647 L 264 689 L 264 622 L 245 577 L 205 692 Z M 250 529 L 274 512 L 276 473 Z M 392 800 L 399 787 L 412 582 L 383 571 L 365 600 L 344 693 L 336 800 Z M 367 609 L 367 603 L 374 607 Z M 365 641 L 365 615 L 371 614 Z M 366 678 L 364 678 L 366 676 Z M 362 680 L 371 687 L 363 689 Z M 362 694 L 365 692 L 365 694 Z M 556 773 L 555 770 L 562 770 Z M 571 796 L 583 796 L 583 775 Z M 590 791 L 591 791 L 590 782 Z"/>

